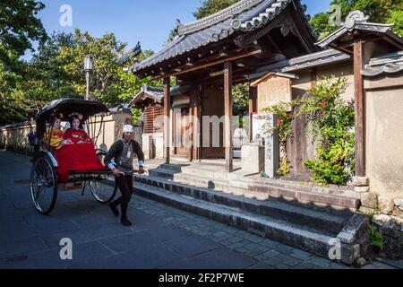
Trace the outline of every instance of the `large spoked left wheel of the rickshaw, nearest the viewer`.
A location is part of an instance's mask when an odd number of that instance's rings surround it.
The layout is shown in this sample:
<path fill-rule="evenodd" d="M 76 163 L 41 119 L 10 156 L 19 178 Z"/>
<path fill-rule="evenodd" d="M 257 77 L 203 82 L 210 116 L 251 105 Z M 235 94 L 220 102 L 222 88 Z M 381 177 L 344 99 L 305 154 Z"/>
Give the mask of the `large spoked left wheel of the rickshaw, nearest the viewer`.
<path fill-rule="evenodd" d="M 57 176 L 55 167 L 47 155 L 39 155 L 30 171 L 30 196 L 39 213 L 52 212 L 57 198 Z"/>

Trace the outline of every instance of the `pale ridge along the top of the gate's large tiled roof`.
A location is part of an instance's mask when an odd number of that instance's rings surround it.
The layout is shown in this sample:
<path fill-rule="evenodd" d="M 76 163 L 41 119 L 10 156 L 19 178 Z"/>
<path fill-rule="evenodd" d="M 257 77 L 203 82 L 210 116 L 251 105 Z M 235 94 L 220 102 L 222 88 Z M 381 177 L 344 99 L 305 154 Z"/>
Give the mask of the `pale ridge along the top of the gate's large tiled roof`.
<path fill-rule="evenodd" d="M 252 8 L 256 4 L 260 4 L 263 1 L 264 0 L 241 0 L 224 10 L 213 13 L 210 16 L 202 18 L 198 21 L 178 26 L 178 35 L 181 36 L 193 33 L 197 30 L 201 30 L 219 22 L 223 22 L 229 18 L 234 18 L 237 14 L 243 13 L 245 10 Z"/>

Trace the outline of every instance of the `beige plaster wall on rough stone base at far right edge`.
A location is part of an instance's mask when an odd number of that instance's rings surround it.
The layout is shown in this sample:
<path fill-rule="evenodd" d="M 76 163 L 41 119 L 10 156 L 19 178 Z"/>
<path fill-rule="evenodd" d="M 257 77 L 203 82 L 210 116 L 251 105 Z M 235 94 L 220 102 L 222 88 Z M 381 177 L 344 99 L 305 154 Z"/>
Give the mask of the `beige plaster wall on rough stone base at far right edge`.
<path fill-rule="evenodd" d="M 382 253 L 403 257 L 403 74 L 366 79 L 366 170 L 363 213 L 374 213 Z"/>

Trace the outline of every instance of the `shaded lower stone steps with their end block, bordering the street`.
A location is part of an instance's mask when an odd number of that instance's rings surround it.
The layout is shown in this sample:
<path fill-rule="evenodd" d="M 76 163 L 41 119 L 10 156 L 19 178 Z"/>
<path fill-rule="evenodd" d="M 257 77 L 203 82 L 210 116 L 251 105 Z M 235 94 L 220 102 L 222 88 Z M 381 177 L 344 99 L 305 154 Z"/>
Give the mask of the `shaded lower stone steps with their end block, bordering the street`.
<path fill-rule="evenodd" d="M 294 210 L 290 206 L 275 203 L 257 204 L 256 201 L 251 202 L 251 199 L 240 200 L 239 196 L 224 196 L 223 193 L 208 188 L 186 187 L 162 178 L 136 176 L 135 179 L 137 180 L 133 187 L 139 196 L 209 217 L 320 257 L 329 258 L 330 250 L 335 251 L 332 254 L 347 265 L 353 264 L 368 247 L 368 217 L 363 214 L 356 213 L 343 222 L 343 217 L 331 218 L 329 214 Z M 113 184 L 112 180 L 110 184 Z M 234 201 L 238 205 L 234 204 Z M 259 213 L 256 213 L 257 211 Z M 296 213 L 294 222 L 288 221 L 292 217 L 280 215 L 293 212 Z M 300 218 L 316 223 L 310 225 Z M 318 227 L 326 221 L 328 230 L 319 229 Z M 336 230 L 331 230 L 333 227 L 330 225 L 333 224 L 339 225 L 337 230 L 344 225 L 337 235 Z"/>

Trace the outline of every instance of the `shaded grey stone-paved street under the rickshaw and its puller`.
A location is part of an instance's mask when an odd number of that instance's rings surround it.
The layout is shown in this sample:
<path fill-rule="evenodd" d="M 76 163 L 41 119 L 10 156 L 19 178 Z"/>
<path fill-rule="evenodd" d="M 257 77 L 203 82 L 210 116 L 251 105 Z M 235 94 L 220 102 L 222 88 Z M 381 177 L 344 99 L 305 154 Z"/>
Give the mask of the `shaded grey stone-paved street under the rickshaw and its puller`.
<path fill-rule="evenodd" d="M 0 152 L 0 268 L 342 269 L 279 242 L 133 196 L 126 228 L 86 192 L 60 192 L 50 216 L 30 200 L 30 159 Z M 73 260 L 59 241 L 73 241 Z M 374 262 L 364 268 L 392 268 Z"/>

